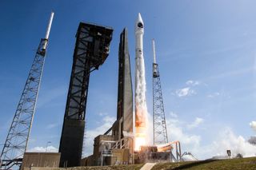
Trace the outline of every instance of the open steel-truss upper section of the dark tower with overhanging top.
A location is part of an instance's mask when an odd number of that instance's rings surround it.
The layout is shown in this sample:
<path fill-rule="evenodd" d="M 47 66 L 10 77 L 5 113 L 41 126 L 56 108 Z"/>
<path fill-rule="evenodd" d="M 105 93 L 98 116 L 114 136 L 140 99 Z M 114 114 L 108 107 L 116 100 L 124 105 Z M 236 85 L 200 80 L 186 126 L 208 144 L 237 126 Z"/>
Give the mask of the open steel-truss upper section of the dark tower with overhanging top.
<path fill-rule="evenodd" d="M 85 119 L 90 72 L 98 69 L 106 60 L 112 31 L 102 26 L 80 23 L 66 101 L 66 119 Z"/>

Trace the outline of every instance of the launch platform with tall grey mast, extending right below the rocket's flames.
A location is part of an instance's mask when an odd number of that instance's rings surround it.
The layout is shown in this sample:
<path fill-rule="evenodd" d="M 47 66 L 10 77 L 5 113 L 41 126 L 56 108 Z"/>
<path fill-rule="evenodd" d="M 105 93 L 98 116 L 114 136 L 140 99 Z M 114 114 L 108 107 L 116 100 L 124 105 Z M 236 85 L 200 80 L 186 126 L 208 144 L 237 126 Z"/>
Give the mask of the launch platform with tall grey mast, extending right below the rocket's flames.
<path fill-rule="evenodd" d="M 82 159 L 81 165 L 103 166 L 180 161 L 182 153 L 179 141 L 163 143 L 161 146 L 140 145 L 138 149 L 134 149 L 135 138 L 138 136 L 134 136 L 133 92 L 126 28 L 120 34 L 118 61 L 117 121 L 104 134 L 94 138 L 93 155 Z M 142 100 L 145 102 L 144 99 Z"/>

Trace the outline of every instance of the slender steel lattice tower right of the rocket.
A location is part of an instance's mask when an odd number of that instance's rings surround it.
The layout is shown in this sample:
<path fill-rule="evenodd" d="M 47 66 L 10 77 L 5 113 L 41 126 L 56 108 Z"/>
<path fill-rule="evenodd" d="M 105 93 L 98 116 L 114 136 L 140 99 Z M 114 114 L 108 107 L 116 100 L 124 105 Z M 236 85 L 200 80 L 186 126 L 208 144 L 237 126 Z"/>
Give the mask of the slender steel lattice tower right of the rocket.
<path fill-rule="evenodd" d="M 154 145 L 168 143 L 166 130 L 166 116 L 163 107 L 162 89 L 160 81 L 160 73 L 158 64 L 155 59 L 154 40 L 153 43 L 153 129 L 154 129 Z"/>

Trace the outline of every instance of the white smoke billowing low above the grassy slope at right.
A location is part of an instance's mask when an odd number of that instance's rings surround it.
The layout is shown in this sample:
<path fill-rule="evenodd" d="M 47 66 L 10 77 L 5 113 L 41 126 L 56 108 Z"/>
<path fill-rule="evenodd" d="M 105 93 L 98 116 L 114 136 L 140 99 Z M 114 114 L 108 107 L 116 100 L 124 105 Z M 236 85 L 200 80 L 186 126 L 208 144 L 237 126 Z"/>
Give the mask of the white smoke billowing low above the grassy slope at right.
<path fill-rule="evenodd" d="M 226 150 L 231 150 L 232 156 L 241 153 L 242 156 L 256 156 L 256 136 L 246 140 L 243 136 L 236 135 L 232 128 L 223 127 L 216 129 L 214 140 L 208 144 L 202 144 L 204 136 L 191 131 L 186 125 L 194 125 L 200 122 L 196 128 L 203 125 L 202 121 L 189 123 L 174 117 L 166 117 L 167 132 L 170 141 L 179 140 L 182 145 L 182 152 L 192 152 L 199 160 L 205 160 L 213 156 L 227 156 Z M 201 120 L 201 119 L 200 119 Z"/>

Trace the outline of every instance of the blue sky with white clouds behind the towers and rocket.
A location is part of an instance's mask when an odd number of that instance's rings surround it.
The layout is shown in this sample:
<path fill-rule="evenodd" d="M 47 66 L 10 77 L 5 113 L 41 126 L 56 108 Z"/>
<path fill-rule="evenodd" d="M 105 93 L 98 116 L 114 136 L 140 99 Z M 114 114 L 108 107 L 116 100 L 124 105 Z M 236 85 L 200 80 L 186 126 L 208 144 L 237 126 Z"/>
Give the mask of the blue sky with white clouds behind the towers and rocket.
<path fill-rule="evenodd" d="M 169 140 L 204 159 L 231 148 L 252 156 L 246 140 L 256 125 L 256 2 L 254 0 L 133 0 L 0 2 L 0 144 L 14 116 L 35 49 L 54 22 L 29 148 L 58 148 L 79 22 L 114 27 L 110 56 L 92 73 L 85 155 L 93 137 L 116 117 L 119 34 L 126 26 L 134 80 L 134 22 L 145 23 L 146 97 L 152 114 L 152 49 L 156 42 Z M 251 124 L 250 124 L 251 123 Z M 2 145 L 0 145 L 0 149 Z M 203 149 L 202 149 L 203 148 Z"/>

